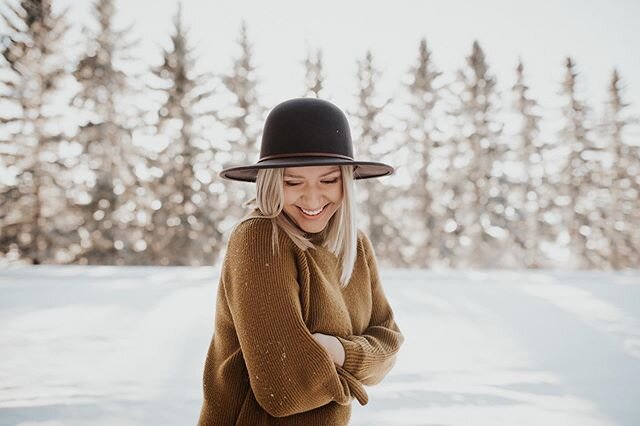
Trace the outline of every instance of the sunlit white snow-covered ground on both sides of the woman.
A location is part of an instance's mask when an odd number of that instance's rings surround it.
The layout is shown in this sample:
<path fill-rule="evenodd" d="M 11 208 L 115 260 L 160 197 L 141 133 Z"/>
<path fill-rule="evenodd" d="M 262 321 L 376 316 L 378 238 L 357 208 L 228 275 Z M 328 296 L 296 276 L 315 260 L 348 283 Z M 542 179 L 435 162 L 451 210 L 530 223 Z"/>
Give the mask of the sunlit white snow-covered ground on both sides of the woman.
<path fill-rule="evenodd" d="M 192 425 L 218 268 L 0 269 L 0 425 Z M 640 424 L 640 272 L 383 270 L 406 341 L 353 425 Z"/>

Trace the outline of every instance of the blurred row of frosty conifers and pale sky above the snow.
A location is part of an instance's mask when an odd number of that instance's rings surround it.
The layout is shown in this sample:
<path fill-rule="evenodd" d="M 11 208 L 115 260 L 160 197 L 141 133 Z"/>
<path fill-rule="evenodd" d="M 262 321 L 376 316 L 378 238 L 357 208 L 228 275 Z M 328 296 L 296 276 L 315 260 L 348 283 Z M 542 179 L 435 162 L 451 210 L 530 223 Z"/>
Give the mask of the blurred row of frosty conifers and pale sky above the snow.
<path fill-rule="evenodd" d="M 640 6 L 7 1 L 0 262 L 211 265 L 282 100 L 350 117 L 386 266 L 640 265 Z M 635 79 L 635 80 L 634 80 Z"/>

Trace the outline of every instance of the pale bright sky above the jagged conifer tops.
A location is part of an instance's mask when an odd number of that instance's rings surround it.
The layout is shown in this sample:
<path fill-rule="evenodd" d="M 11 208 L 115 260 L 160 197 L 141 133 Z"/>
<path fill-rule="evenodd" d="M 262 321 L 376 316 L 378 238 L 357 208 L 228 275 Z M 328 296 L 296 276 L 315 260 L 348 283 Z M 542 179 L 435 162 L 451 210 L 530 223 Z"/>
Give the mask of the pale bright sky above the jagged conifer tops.
<path fill-rule="evenodd" d="M 253 42 L 263 102 L 271 107 L 299 96 L 306 47 L 324 52 L 328 96 L 345 108 L 355 102 L 356 59 L 371 49 L 383 71 L 382 90 L 397 93 L 400 81 L 426 37 L 437 66 L 448 76 L 464 65 L 477 39 L 501 88 L 515 78 L 518 57 L 529 85 L 546 107 L 557 104 L 564 60 L 571 55 L 581 72 L 585 96 L 605 98 L 613 67 L 627 85 L 627 100 L 640 105 L 640 2 L 633 0 L 184 0 L 201 66 L 230 68 L 237 55 L 242 19 Z M 86 22 L 91 1 L 54 0 L 69 5 L 73 22 Z M 176 13 L 176 0 L 119 1 L 118 22 L 133 24 L 149 60 L 158 60 Z"/>

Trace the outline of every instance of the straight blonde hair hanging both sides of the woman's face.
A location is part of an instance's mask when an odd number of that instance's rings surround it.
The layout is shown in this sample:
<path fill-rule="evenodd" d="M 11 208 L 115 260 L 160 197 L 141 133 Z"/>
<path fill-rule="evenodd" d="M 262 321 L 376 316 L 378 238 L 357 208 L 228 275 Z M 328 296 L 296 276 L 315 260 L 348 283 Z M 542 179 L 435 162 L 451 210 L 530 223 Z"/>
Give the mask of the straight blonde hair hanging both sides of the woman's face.
<path fill-rule="evenodd" d="M 322 243 L 339 260 L 342 266 L 340 285 L 346 287 L 353 273 L 357 257 L 358 228 L 356 222 L 355 185 L 353 166 L 340 166 L 342 173 L 342 203 L 322 231 Z M 243 204 L 252 207 L 239 223 L 253 218 L 266 217 L 273 225 L 272 246 L 279 253 L 278 230 L 281 229 L 302 251 L 313 248 L 304 232 L 284 213 L 284 168 L 260 169 L 256 178 L 256 196 Z"/>

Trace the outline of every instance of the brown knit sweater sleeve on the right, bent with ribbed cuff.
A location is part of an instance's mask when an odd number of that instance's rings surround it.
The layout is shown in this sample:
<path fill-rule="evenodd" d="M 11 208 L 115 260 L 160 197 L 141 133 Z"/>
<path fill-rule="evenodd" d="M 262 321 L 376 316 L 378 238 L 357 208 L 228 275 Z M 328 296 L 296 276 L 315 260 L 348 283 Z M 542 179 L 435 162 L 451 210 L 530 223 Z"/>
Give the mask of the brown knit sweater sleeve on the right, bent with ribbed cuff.
<path fill-rule="evenodd" d="M 371 277 L 371 320 L 362 335 L 337 337 L 345 350 L 342 367 L 362 384 L 375 385 L 382 381 L 395 364 L 396 354 L 404 337 L 382 289 L 371 241 L 366 234 L 361 235 Z"/>

